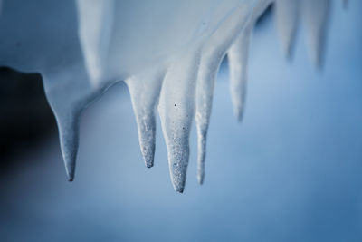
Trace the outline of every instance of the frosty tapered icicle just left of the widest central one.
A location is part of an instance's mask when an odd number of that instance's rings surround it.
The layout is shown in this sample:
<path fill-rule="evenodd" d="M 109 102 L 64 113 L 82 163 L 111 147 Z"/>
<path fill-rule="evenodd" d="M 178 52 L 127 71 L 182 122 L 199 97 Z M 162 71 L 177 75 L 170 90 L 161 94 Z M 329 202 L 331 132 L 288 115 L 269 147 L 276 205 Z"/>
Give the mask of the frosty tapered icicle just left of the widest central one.
<path fill-rule="evenodd" d="M 163 72 L 158 69 L 127 79 L 133 111 L 138 126 L 139 146 L 148 168 L 153 167 L 155 156 L 155 108 L 161 89 Z"/>

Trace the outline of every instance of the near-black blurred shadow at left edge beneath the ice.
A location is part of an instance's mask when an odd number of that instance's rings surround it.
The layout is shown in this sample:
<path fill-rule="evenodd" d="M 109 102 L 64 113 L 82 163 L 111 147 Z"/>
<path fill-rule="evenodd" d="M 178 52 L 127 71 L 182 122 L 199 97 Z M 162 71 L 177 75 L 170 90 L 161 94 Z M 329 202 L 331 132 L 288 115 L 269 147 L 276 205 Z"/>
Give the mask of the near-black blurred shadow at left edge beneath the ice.
<path fill-rule="evenodd" d="M 55 133 L 42 77 L 0 67 L 0 173 L 14 168 L 14 158 Z"/>

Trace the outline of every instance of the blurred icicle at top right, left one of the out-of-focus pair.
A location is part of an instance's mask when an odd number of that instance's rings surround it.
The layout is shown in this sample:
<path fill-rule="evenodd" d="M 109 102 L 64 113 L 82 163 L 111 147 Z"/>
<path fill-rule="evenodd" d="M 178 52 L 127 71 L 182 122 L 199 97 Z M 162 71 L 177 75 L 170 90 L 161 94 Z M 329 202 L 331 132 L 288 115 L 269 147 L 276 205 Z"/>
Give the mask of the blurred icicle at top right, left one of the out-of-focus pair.
<path fill-rule="evenodd" d="M 299 24 L 300 0 L 277 0 L 274 13 L 282 50 L 287 58 L 291 58 Z"/>

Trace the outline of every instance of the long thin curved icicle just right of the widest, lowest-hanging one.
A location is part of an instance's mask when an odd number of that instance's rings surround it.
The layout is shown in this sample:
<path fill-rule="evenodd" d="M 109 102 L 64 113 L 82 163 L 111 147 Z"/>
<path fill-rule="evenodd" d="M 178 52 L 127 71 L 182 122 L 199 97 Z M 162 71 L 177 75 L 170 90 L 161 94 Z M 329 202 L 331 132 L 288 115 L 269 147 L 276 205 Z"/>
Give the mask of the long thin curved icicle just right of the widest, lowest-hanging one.
<path fill-rule="evenodd" d="M 200 184 L 203 184 L 205 179 L 206 137 L 213 104 L 216 73 L 226 51 L 249 21 L 253 6 L 250 3 L 239 5 L 233 15 L 211 36 L 203 49 L 197 76 L 195 111 L 198 148 L 197 179 Z"/>

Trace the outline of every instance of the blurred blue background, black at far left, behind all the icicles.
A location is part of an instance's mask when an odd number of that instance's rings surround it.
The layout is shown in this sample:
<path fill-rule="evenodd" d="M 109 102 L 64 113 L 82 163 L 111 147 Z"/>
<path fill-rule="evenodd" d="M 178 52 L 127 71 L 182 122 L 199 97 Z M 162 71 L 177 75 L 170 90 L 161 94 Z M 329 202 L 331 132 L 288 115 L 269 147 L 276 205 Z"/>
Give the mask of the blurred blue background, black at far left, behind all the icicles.
<path fill-rule="evenodd" d="M 68 182 L 41 76 L 2 67 L 0 241 L 362 241 L 362 2 L 341 2 L 317 70 L 302 28 L 288 61 L 272 8 L 262 16 L 242 123 L 222 64 L 205 184 L 194 125 L 184 194 L 159 121 L 155 167 L 145 167 L 123 83 L 84 111 Z"/>

